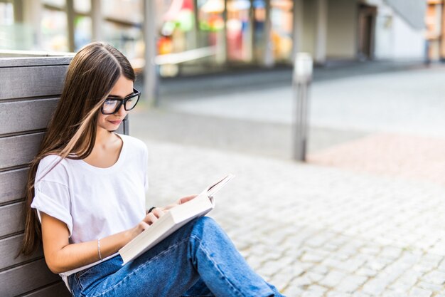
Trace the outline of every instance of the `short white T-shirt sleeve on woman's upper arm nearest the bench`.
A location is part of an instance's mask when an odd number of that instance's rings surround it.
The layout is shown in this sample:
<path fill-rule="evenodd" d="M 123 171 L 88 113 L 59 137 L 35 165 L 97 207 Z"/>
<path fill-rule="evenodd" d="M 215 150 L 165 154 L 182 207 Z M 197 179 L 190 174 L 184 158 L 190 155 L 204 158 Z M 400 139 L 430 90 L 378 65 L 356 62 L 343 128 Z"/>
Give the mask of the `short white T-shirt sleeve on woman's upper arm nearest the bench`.
<path fill-rule="evenodd" d="M 37 209 L 38 219 L 41 221 L 41 212 L 55 217 L 68 226 L 70 236 L 73 233 L 73 217 L 70 213 L 70 194 L 68 187 L 58 182 L 41 180 L 34 187 L 32 208 Z"/>

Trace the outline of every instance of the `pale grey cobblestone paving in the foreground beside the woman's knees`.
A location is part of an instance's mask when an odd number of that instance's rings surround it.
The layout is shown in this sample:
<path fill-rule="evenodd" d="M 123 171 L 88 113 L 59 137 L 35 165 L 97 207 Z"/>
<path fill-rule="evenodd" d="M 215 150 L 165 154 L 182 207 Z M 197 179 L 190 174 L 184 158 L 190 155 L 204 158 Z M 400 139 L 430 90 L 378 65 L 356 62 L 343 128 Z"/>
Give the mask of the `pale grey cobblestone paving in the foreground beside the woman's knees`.
<path fill-rule="evenodd" d="M 227 172 L 211 213 L 286 296 L 445 297 L 445 187 L 150 140 L 147 204 Z"/>

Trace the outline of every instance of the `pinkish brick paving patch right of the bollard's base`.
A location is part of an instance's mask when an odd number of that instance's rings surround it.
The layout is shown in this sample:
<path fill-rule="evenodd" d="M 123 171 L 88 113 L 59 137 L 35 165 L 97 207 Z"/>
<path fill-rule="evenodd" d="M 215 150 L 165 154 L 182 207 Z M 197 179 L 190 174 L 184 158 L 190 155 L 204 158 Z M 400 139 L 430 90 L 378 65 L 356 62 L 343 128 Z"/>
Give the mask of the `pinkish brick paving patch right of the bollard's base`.
<path fill-rule="evenodd" d="M 373 133 L 309 155 L 312 164 L 445 185 L 445 139 Z"/>

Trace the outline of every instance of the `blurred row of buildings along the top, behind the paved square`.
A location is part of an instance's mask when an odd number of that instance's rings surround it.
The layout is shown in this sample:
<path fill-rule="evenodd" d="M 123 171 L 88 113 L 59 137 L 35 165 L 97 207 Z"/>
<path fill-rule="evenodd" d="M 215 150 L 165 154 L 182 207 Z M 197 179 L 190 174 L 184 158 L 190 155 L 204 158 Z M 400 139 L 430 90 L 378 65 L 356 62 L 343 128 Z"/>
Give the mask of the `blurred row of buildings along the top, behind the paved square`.
<path fill-rule="evenodd" d="M 143 0 L 0 0 L 0 49 L 105 40 L 141 68 L 144 28 L 154 28 L 164 76 L 291 65 L 296 51 L 318 64 L 425 54 L 424 0 L 153 1 L 154 18 L 144 18 Z"/>

